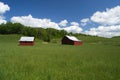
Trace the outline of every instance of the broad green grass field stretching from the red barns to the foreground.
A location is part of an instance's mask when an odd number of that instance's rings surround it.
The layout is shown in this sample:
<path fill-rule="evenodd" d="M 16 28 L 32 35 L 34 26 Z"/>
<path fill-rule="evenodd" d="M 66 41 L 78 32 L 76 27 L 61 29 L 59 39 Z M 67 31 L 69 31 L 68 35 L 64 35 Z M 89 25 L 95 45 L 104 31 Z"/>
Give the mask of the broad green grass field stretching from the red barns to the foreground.
<path fill-rule="evenodd" d="M 18 46 L 19 38 L 0 35 L 0 80 L 120 80 L 120 46 Z"/>

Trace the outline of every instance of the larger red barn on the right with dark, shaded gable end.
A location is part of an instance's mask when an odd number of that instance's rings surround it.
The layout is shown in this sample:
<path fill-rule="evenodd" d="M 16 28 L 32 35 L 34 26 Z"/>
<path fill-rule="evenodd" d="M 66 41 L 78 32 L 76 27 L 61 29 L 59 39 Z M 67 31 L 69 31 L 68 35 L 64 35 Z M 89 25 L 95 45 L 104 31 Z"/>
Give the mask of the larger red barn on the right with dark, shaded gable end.
<path fill-rule="evenodd" d="M 64 36 L 62 39 L 62 44 L 69 44 L 69 45 L 82 45 L 83 42 L 79 39 L 77 39 L 74 36 Z"/>

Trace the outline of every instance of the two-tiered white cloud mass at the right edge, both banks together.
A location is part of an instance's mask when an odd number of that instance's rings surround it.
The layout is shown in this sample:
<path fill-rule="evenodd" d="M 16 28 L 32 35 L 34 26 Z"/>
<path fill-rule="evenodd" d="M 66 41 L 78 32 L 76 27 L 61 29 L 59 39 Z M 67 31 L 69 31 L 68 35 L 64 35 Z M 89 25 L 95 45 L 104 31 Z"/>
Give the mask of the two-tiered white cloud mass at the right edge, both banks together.
<path fill-rule="evenodd" d="M 84 31 L 85 34 L 108 38 L 120 36 L 120 6 L 106 9 L 103 12 L 97 11 L 90 20 L 99 25 Z"/>

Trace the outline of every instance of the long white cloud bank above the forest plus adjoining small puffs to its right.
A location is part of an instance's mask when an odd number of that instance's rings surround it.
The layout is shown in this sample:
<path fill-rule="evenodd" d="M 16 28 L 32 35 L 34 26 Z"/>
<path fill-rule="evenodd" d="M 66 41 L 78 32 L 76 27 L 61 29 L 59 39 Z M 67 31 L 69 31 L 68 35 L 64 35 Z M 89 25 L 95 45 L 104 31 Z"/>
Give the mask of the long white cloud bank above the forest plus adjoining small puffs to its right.
<path fill-rule="evenodd" d="M 11 22 L 21 23 L 25 26 L 30 27 L 54 28 L 58 30 L 66 30 L 67 32 L 72 33 L 80 33 L 82 31 L 82 28 L 79 27 L 79 24 L 77 22 L 71 22 L 71 26 L 61 28 L 59 25 L 66 26 L 66 24 L 68 23 L 67 20 L 63 20 L 60 23 L 55 23 L 52 22 L 50 19 L 33 18 L 32 15 L 14 16 L 11 18 Z"/>

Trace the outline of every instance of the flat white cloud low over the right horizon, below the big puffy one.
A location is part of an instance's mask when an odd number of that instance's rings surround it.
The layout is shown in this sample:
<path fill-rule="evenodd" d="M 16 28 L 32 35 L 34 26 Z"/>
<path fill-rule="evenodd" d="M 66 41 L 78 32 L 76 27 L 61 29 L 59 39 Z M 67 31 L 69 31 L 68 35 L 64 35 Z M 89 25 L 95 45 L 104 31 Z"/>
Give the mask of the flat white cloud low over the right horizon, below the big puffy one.
<path fill-rule="evenodd" d="M 120 25 L 99 26 L 98 28 L 91 28 L 89 31 L 85 31 L 85 34 L 108 38 L 113 36 L 120 36 Z"/>

